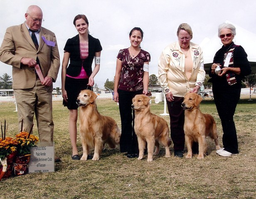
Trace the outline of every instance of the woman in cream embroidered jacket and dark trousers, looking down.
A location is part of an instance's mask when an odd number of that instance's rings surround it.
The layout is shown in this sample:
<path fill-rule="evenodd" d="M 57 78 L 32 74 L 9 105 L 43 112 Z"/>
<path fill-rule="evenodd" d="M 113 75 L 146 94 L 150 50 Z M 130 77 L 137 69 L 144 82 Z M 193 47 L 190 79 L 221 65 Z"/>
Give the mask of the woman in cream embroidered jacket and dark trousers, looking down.
<path fill-rule="evenodd" d="M 199 93 L 205 71 L 201 48 L 190 42 L 193 37 L 190 25 L 180 24 L 177 36 L 178 41 L 168 45 L 160 55 L 158 75 L 170 114 L 174 155 L 182 158 L 185 146 L 185 115 L 181 103 L 187 92 Z M 193 153 L 198 153 L 198 144 L 194 143 L 192 150 Z"/>

